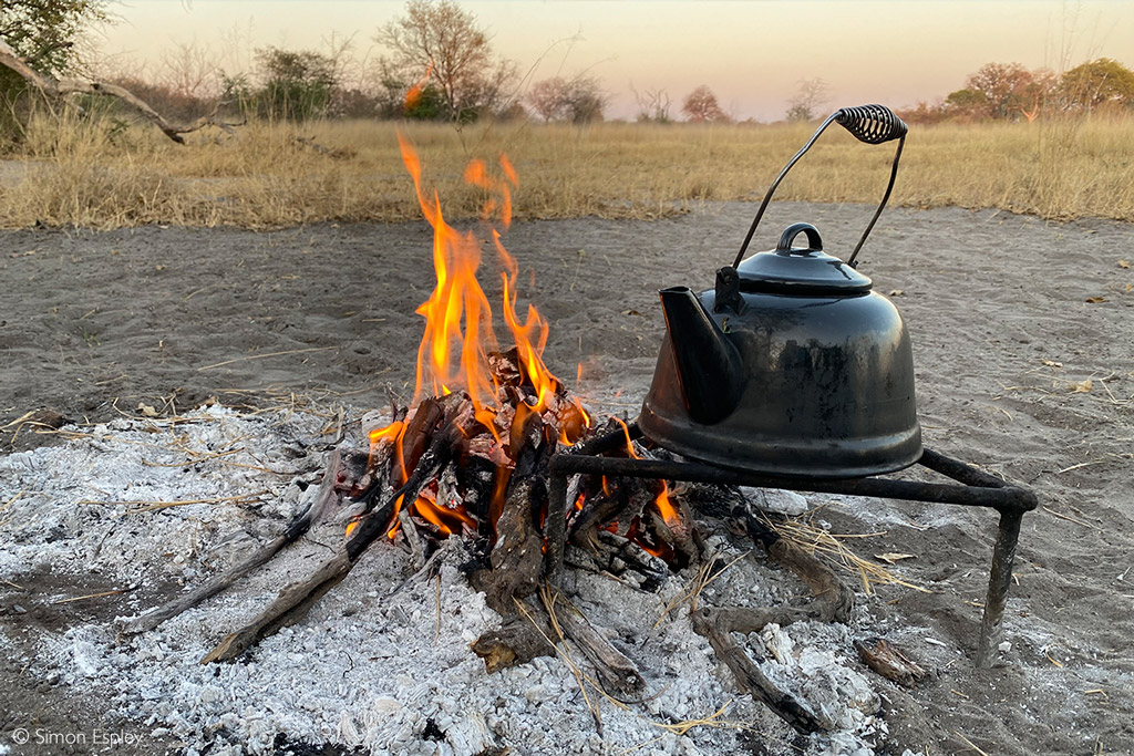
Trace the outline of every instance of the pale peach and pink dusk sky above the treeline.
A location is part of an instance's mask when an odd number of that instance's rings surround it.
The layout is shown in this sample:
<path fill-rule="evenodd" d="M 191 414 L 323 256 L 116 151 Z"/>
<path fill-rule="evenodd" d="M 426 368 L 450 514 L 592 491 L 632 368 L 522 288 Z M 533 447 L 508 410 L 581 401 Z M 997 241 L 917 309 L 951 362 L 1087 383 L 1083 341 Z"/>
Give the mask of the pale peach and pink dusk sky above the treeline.
<path fill-rule="evenodd" d="M 1100 57 L 1134 68 L 1134 2 L 1052 0 L 467 0 L 494 51 L 527 83 L 585 73 L 633 118 L 634 91 L 663 91 L 671 113 L 708 85 L 743 120 L 782 118 L 803 80 L 822 79 L 830 109 L 932 102 L 988 62 L 1053 70 Z M 101 33 L 111 66 L 155 69 L 177 45 L 208 49 L 228 71 L 266 45 L 328 51 L 352 40 L 359 61 L 392 0 L 127 0 Z"/>

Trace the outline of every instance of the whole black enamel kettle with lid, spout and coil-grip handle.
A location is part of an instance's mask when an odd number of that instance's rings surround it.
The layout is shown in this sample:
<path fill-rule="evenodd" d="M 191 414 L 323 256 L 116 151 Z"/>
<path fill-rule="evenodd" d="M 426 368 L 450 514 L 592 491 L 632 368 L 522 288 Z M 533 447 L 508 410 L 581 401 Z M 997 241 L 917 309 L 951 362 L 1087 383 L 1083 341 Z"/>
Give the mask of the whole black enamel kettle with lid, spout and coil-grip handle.
<path fill-rule="evenodd" d="M 869 144 L 898 139 L 886 194 L 847 262 L 794 223 L 741 262 L 772 194 L 831 124 Z M 883 105 L 832 113 L 764 195 L 713 289 L 659 292 L 666 338 L 638 425 L 692 459 L 784 476 L 889 473 L 921 457 L 909 337 L 855 258 L 894 188 L 906 125 Z M 796 246 L 803 236 L 805 246 Z"/>

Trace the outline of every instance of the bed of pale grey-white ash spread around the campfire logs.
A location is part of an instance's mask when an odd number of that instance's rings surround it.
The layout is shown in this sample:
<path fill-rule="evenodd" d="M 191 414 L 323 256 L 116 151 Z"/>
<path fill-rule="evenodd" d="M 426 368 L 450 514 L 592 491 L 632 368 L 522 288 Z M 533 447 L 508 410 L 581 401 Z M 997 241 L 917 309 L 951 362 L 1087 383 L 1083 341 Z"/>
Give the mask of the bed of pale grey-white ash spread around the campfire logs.
<path fill-rule="evenodd" d="M 456 541 L 445 546 L 434 574 L 415 574 L 396 543 L 374 544 L 302 622 L 236 663 L 198 660 L 286 584 L 310 574 L 333 542 L 308 536 L 156 630 L 116 637 L 115 614 L 139 614 L 198 585 L 302 511 L 335 441 L 325 424 L 298 411 L 246 415 L 211 406 L 177 421 L 68 427 L 66 445 L 0 458 L 0 579 L 19 585 L 52 576 L 53 593 L 23 600 L 45 606 L 127 589 L 71 604 L 105 606 L 96 621 L 61 622 L 31 638 L 0 635 L 0 646 L 22 649 L 25 674 L 101 702 L 108 724 L 133 727 L 189 756 L 270 754 L 281 741 L 468 755 L 872 754 L 885 741 L 879 679 L 855 661 L 853 629 L 802 622 L 744 639 L 767 657 L 769 678 L 837 727 L 798 736 L 737 691 L 693 631 L 687 603 L 660 619 L 693 580 L 687 571 L 670 576 L 658 593 L 602 575 L 566 578 L 572 601 L 613 632 L 612 643 L 648 683 L 644 700 L 634 704 L 616 704 L 587 686 L 601 727 L 565 661 L 587 673 L 569 643 L 558 657 L 485 672 L 469 644 L 498 628 L 500 617 L 468 587 Z M 722 535 L 709 545 L 730 562 L 747 549 Z M 794 576 L 753 551 L 700 601 L 779 605 L 805 595 Z M 860 610 L 856 622 L 866 621 Z M 685 727 L 694 720 L 704 722 Z"/>

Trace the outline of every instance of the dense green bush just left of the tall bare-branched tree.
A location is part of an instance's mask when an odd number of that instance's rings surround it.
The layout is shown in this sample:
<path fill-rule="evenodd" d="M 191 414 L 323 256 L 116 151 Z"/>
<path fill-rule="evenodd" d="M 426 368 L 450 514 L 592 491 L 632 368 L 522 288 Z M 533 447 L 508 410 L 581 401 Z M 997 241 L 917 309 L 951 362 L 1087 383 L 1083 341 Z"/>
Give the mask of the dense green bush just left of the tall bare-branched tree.
<path fill-rule="evenodd" d="M 311 50 L 256 50 L 264 85 L 254 95 L 262 116 L 305 120 L 322 116 L 338 85 L 335 60 Z"/>

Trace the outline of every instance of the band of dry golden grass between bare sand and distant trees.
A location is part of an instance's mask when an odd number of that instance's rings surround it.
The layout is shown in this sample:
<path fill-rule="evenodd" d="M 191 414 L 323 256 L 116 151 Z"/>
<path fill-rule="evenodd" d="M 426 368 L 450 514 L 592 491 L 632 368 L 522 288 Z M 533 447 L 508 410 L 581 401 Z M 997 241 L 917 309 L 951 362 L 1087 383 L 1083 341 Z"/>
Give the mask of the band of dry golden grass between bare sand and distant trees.
<path fill-rule="evenodd" d="M 532 124 L 405 126 L 450 216 L 481 204 L 462 171 L 507 153 L 521 218 L 655 218 L 702 201 L 758 199 L 811 126 L 576 128 Z M 395 125 L 252 124 L 238 138 L 44 114 L 0 171 L 0 227 L 141 223 L 280 227 L 418 216 Z M 318 150 L 299 138 L 313 138 Z M 777 193 L 781 199 L 879 199 L 892 145 L 832 127 Z M 1134 220 L 1134 120 L 915 127 L 894 199 L 919 207 L 999 207 L 1048 219 Z"/>

